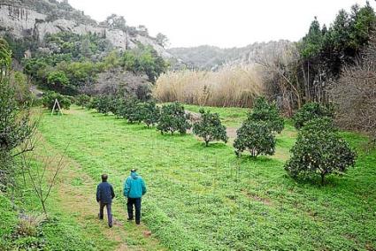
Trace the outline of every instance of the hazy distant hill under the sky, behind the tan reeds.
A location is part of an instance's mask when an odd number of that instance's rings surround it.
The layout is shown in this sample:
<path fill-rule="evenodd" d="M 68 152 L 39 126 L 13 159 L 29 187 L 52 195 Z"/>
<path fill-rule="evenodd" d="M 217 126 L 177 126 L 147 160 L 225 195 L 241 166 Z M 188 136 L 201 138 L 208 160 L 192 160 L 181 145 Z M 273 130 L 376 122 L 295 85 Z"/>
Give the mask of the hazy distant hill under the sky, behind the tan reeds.
<path fill-rule="evenodd" d="M 196 69 L 214 70 L 220 65 L 237 63 L 254 63 L 257 55 L 271 54 L 285 49 L 292 42 L 255 42 L 241 48 L 221 49 L 215 46 L 203 45 L 192 48 L 172 48 L 167 51 L 173 57 L 180 58 L 189 67 Z"/>

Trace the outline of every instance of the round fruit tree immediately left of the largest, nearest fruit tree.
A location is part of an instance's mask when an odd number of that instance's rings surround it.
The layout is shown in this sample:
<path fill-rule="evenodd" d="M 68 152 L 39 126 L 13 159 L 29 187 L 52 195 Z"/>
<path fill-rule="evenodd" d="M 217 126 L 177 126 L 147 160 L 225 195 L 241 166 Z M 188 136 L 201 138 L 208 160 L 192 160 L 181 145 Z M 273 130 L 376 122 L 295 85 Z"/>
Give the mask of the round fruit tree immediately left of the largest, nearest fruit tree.
<path fill-rule="evenodd" d="M 236 133 L 237 137 L 234 141 L 236 156 L 241 156 L 245 150 L 248 150 L 253 157 L 274 154 L 275 137 L 266 122 L 246 120 Z"/>

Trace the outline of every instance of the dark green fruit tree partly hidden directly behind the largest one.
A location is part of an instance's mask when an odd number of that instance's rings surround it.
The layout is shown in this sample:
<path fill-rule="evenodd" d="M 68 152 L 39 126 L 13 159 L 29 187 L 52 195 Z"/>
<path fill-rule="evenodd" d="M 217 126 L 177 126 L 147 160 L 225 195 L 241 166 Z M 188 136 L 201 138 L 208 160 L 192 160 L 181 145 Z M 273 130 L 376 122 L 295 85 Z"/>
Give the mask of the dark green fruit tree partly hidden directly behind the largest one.
<path fill-rule="evenodd" d="M 300 129 L 307 122 L 315 118 L 334 118 L 334 107 L 332 105 L 324 106 L 320 103 L 306 103 L 293 116 L 294 126 Z"/>

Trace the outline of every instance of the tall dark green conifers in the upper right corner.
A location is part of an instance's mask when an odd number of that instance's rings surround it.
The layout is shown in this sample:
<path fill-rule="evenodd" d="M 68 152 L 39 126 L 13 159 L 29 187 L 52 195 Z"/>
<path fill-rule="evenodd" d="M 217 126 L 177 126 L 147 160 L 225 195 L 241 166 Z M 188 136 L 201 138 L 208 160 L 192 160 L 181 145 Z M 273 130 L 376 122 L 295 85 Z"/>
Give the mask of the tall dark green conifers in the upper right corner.
<path fill-rule="evenodd" d="M 375 21 L 375 13 L 368 2 L 362 8 L 354 5 L 350 12 L 339 11 L 329 28 L 321 28 L 315 18 L 309 33 L 300 43 L 301 55 L 313 64 L 318 59 L 318 64 L 324 63 L 329 71 L 337 75 L 341 65 L 356 57 L 368 42 Z M 311 67 L 316 66 L 313 64 Z"/>

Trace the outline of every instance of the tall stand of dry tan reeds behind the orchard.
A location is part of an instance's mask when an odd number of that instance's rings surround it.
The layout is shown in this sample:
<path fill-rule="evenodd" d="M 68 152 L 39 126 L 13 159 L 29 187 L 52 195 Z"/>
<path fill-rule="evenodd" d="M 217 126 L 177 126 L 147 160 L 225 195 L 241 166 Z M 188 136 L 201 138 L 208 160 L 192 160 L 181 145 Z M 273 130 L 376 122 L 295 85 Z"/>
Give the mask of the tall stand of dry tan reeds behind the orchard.
<path fill-rule="evenodd" d="M 259 71 L 257 65 L 227 65 L 218 72 L 167 72 L 157 80 L 153 94 L 161 102 L 251 107 L 264 93 Z"/>

